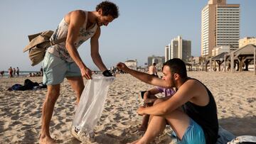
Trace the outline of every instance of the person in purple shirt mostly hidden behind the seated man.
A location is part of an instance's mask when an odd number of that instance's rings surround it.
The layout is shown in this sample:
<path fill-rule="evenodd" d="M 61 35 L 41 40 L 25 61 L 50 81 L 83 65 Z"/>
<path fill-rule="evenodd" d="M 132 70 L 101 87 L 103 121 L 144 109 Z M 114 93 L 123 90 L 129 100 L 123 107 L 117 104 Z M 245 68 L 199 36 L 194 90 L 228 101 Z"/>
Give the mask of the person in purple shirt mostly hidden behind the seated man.
<path fill-rule="evenodd" d="M 163 93 L 164 97 L 159 98 L 156 96 L 156 94 Z M 152 89 L 147 90 L 146 92 L 142 92 L 142 97 L 144 99 L 144 107 L 149 107 L 154 104 L 154 101 L 156 99 L 169 99 L 171 96 L 175 94 L 175 91 L 173 88 L 164 88 L 164 87 L 154 87 Z M 149 123 L 149 115 L 145 114 L 142 118 L 142 125 L 139 128 L 139 131 L 146 131 L 146 128 Z"/>

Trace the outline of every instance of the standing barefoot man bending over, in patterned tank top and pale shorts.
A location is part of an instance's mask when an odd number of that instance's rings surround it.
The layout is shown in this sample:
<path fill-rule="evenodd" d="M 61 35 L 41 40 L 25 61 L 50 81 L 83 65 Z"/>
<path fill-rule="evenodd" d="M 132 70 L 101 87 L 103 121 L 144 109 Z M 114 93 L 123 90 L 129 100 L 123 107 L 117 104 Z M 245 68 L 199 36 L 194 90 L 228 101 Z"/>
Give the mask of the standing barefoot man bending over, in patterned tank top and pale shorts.
<path fill-rule="evenodd" d="M 99 54 L 100 27 L 107 26 L 119 16 L 118 7 L 110 1 L 102 1 L 95 11 L 70 11 L 58 25 L 50 40 L 66 38 L 64 43 L 50 46 L 42 62 L 43 84 L 47 84 L 46 99 L 42 110 L 40 143 L 55 143 L 50 137 L 49 125 L 53 109 L 60 95 L 60 83 L 66 77 L 76 94 L 76 103 L 84 89 L 82 77 L 92 79 L 92 71 L 82 62 L 77 48 L 90 38 L 92 61 L 105 77 L 112 74 L 107 70 Z"/>

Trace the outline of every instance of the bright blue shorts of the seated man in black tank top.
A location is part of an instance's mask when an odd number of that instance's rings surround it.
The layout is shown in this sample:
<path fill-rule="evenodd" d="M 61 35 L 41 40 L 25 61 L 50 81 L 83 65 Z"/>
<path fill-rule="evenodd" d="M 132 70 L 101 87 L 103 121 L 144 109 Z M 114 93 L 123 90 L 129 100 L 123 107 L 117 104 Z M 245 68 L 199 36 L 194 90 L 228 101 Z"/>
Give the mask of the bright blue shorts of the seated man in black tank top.
<path fill-rule="evenodd" d="M 178 138 L 177 138 L 178 139 Z M 206 144 L 206 137 L 203 133 L 201 126 L 190 118 L 190 123 L 186 129 L 185 134 L 181 140 L 178 140 L 181 144 Z"/>

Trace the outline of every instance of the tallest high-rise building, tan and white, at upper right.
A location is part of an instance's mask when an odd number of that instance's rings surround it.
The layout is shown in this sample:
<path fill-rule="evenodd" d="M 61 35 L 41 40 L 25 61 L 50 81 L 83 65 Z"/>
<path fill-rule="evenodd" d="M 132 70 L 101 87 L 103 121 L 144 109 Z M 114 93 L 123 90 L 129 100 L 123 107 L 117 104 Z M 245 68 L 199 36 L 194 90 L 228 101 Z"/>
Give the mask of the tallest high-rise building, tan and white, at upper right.
<path fill-rule="evenodd" d="M 201 56 L 212 55 L 213 48 L 229 45 L 238 49 L 240 38 L 240 4 L 226 0 L 209 0 L 201 11 Z"/>

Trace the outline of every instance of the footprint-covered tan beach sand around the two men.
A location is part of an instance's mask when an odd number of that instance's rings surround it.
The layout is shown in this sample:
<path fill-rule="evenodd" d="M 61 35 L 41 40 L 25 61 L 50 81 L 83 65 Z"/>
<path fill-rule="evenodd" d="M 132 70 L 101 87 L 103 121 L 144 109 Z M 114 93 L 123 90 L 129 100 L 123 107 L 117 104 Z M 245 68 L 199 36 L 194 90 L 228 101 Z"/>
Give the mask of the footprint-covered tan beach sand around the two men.
<path fill-rule="evenodd" d="M 256 135 L 256 76 L 253 72 L 188 72 L 188 76 L 201 80 L 213 93 L 220 126 L 234 135 Z M 0 78 L 0 143 L 38 143 L 46 89 L 6 91 L 14 84 L 23 84 L 26 78 Z M 42 82 L 42 77 L 29 79 Z M 142 105 L 139 92 L 151 87 L 129 74 L 117 74 L 95 126 L 95 143 L 128 143 L 140 138 L 142 133 L 136 132 L 142 122 L 142 116 L 136 113 Z M 61 143 L 81 143 L 70 134 L 74 109 L 75 94 L 65 79 L 50 122 L 52 137 Z M 166 134 L 169 131 L 166 128 L 154 143 L 174 143 Z"/>

